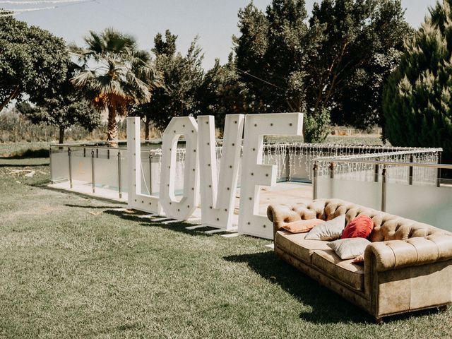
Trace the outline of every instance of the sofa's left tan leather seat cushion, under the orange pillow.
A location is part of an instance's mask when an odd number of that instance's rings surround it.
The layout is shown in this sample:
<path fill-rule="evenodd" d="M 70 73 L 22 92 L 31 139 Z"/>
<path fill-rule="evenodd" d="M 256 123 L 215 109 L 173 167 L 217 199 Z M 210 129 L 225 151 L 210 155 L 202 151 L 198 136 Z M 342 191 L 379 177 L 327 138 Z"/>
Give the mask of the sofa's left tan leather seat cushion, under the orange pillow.
<path fill-rule="evenodd" d="M 275 234 L 275 246 L 283 249 L 287 254 L 295 256 L 299 260 L 311 263 L 312 252 L 316 249 L 330 249 L 328 242 L 321 240 L 306 240 L 307 233 L 290 233 L 280 230 Z"/>

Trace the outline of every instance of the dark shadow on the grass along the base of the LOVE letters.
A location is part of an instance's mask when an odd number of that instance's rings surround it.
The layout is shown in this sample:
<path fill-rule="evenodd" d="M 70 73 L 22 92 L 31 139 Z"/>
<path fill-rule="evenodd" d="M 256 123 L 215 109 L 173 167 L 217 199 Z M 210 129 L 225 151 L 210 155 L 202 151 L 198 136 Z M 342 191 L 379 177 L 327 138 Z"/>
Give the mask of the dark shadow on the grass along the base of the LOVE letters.
<path fill-rule="evenodd" d="M 169 224 L 164 224 L 161 221 L 153 221 L 152 218 L 143 218 L 143 215 L 149 215 L 149 213 L 137 213 L 136 210 L 133 210 L 133 212 L 130 212 L 129 210 L 105 210 L 105 213 L 108 213 L 110 215 L 116 215 L 117 217 L 138 222 L 139 225 L 144 227 L 160 227 L 165 230 L 172 230 L 174 232 L 180 232 L 184 234 L 189 234 L 192 236 L 201 236 L 201 237 L 210 237 L 212 234 L 206 233 L 208 230 L 214 230 L 211 227 L 200 227 L 196 228 L 196 230 L 187 230 L 186 227 L 189 226 L 196 226 L 195 224 L 191 224 L 189 222 L 171 222 Z M 155 217 L 155 218 L 163 218 L 163 217 Z M 162 220 L 163 221 L 163 220 Z"/>

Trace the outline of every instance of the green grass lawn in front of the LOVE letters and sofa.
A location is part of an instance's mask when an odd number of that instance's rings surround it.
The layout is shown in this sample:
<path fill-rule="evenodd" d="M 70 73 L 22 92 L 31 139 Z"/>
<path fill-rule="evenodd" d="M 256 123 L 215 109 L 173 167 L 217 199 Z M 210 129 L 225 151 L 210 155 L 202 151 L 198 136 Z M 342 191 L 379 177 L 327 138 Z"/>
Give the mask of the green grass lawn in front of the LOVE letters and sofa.
<path fill-rule="evenodd" d="M 451 308 L 378 326 L 268 240 L 150 222 L 47 189 L 36 160 L 13 165 L 0 165 L 0 338 L 451 338 Z"/>

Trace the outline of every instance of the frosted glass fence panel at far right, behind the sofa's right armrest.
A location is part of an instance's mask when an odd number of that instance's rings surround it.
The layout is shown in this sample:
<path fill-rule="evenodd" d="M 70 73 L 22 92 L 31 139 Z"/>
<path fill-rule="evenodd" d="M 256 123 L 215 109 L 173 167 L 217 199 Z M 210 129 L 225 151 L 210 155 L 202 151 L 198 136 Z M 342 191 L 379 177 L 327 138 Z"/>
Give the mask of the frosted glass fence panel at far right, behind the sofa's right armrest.
<path fill-rule="evenodd" d="M 386 212 L 452 231 L 452 185 L 388 183 Z"/>

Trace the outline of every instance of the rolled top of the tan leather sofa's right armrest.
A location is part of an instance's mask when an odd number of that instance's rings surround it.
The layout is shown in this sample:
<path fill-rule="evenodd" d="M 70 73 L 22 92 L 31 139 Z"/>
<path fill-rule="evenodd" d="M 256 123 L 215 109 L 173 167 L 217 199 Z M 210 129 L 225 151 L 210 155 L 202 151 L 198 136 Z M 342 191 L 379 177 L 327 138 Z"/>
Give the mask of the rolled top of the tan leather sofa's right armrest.
<path fill-rule="evenodd" d="M 379 272 L 446 261 L 452 258 L 452 237 L 431 235 L 407 240 L 373 242 L 364 252 L 366 263 L 370 263 L 372 254 L 375 257 L 376 270 Z"/>

